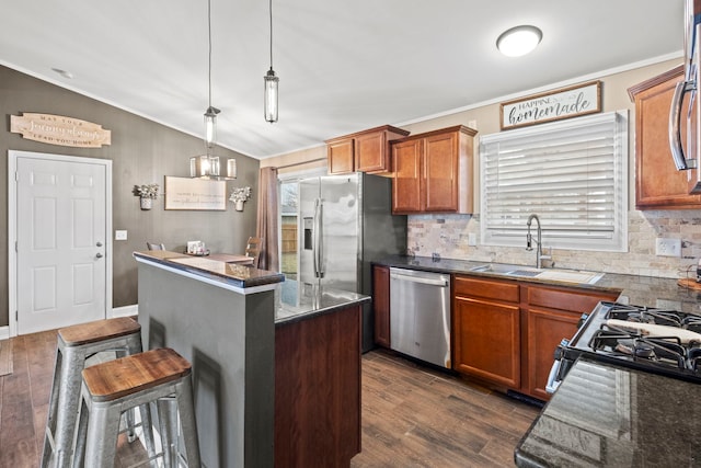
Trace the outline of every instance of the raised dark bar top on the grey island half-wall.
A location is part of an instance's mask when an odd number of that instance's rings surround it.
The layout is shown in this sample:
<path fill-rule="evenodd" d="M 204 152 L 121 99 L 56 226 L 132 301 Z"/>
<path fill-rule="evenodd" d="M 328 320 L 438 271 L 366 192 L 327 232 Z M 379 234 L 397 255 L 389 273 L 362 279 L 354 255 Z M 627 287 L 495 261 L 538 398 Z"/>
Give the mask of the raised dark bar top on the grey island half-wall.
<path fill-rule="evenodd" d="M 207 259 L 206 256 L 193 256 L 185 253 L 171 252 L 168 250 L 149 250 L 134 252 L 137 259 L 146 259 L 197 275 L 221 281 L 226 284 L 248 288 L 263 286 L 285 281 L 281 273 L 260 270 L 252 266 L 235 263 L 226 263 L 219 260 Z"/>

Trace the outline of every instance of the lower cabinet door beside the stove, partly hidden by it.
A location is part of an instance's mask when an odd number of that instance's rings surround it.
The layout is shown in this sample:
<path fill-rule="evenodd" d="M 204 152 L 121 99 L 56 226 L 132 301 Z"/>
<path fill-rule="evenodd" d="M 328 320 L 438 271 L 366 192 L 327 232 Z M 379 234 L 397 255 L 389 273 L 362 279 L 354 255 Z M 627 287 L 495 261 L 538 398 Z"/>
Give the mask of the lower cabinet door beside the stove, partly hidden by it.
<path fill-rule="evenodd" d="M 541 400 L 550 399 L 545 391 L 548 375 L 554 362 L 555 347 L 563 338 L 577 331 L 581 313 L 528 309 L 528 375 L 526 392 Z"/>

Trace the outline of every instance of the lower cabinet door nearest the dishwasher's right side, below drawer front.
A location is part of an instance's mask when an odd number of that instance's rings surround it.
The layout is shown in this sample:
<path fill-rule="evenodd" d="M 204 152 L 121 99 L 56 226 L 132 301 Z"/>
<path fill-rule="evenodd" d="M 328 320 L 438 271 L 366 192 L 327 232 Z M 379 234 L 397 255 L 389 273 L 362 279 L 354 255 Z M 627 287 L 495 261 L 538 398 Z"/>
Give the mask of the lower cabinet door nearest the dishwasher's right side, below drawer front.
<path fill-rule="evenodd" d="M 509 388 L 520 386 L 518 305 L 457 297 L 455 370 Z"/>

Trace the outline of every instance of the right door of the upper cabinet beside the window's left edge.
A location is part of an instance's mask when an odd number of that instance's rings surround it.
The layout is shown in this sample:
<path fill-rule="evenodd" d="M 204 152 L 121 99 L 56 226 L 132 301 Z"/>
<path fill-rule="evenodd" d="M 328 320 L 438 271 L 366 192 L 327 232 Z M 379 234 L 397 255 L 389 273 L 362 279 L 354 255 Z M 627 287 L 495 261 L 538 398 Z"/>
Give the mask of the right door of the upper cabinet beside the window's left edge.
<path fill-rule="evenodd" d="M 455 132 L 425 138 L 426 212 L 458 210 L 458 151 Z"/>

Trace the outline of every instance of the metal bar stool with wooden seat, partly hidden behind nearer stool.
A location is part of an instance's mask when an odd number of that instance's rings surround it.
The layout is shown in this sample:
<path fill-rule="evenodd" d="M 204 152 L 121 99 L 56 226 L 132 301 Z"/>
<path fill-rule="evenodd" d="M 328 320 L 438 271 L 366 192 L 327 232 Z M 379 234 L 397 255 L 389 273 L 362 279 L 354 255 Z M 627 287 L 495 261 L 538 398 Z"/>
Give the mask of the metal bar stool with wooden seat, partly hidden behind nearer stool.
<path fill-rule="evenodd" d="M 81 372 L 85 361 L 100 352 L 115 351 L 117 357 L 140 353 L 141 326 L 128 317 L 97 320 L 58 330 L 54 384 L 49 400 L 42 467 L 47 467 L 54 455 L 56 467 L 70 466 L 73 452 L 78 404 L 80 402 Z M 131 413 L 127 414 L 127 425 L 134 429 Z M 146 422 L 145 422 L 145 427 Z M 147 448 L 154 453 L 153 435 L 143 433 Z M 129 442 L 135 435 L 129 434 Z"/>

